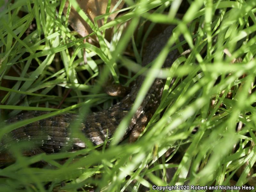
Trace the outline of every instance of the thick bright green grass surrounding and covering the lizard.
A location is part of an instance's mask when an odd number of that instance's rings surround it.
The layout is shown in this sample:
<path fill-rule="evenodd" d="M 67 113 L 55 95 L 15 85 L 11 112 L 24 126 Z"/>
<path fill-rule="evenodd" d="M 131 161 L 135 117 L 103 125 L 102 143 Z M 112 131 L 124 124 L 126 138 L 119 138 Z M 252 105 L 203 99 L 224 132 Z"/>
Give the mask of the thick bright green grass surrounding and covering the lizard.
<path fill-rule="evenodd" d="M 22 146 L 12 146 L 17 161 L 0 170 L 1 191 L 142 191 L 153 185 L 256 187 L 255 0 L 127 1 L 125 8 L 115 11 L 119 12 L 116 19 L 101 27 L 70 0 L 93 30 L 85 37 L 70 28 L 68 16 L 63 14 L 65 2 L 0 2 L 0 137 L 49 116 L 79 110 L 89 113 L 113 105 L 119 99 L 105 94 L 101 86 L 109 77 L 128 86 L 142 73 L 134 68 L 141 64 L 156 23 L 177 27 L 150 66 L 161 66 L 172 45 L 171 49 L 183 54 L 171 68 L 163 69 L 166 86 L 161 104 L 138 141 L 118 144 L 150 89 L 152 70 L 130 116 L 119 124 L 108 147 L 24 157 Z M 107 21 L 108 11 L 94 21 Z M 105 31 L 111 28 L 113 36 L 108 41 Z M 97 36 L 98 42 L 84 43 L 90 36 Z M 179 42 L 179 36 L 185 40 Z M 61 109 L 56 109 L 59 105 Z M 4 119 L 23 110 L 51 113 L 4 124 Z M 67 161 L 60 163 L 58 159 L 63 158 Z"/>

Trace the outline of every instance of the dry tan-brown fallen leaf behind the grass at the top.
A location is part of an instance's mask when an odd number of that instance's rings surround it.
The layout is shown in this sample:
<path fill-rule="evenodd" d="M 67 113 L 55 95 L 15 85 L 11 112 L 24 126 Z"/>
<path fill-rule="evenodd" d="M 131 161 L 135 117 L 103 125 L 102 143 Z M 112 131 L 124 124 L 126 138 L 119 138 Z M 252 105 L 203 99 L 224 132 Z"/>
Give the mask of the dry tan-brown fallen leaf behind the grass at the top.
<path fill-rule="evenodd" d="M 110 12 L 113 10 L 113 7 L 116 5 L 118 0 L 111 0 Z M 94 18 L 96 16 L 102 15 L 106 13 L 108 0 L 77 0 L 80 8 L 85 12 L 88 18 L 94 23 Z M 67 14 L 69 2 L 67 1 L 65 4 L 65 8 L 63 10 L 64 14 Z M 120 5 L 116 8 L 115 11 L 120 10 L 124 5 L 124 1 L 120 3 Z M 117 13 L 113 13 L 108 16 L 108 22 L 115 19 Z M 71 7 L 71 11 L 69 13 L 68 22 L 71 27 L 77 31 L 81 36 L 87 36 L 92 33 L 92 29 L 90 26 L 83 20 L 83 18 L 75 11 L 73 7 Z M 104 19 L 98 20 L 97 24 L 101 27 L 104 23 Z"/>

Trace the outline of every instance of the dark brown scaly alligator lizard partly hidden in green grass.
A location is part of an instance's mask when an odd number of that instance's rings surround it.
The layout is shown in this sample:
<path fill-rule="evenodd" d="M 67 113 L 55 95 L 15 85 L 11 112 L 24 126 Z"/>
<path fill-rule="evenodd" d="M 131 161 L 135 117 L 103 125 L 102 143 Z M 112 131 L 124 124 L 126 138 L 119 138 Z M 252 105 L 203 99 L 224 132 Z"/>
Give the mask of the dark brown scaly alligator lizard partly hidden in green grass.
<path fill-rule="evenodd" d="M 150 63 L 156 58 L 161 51 L 164 44 L 172 34 L 173 27 L 168 27 L 163 33 L 156 36 L 149 44 L 146 52 L 143 56 L 143 66 Z M 164 66 L 171 66 L 172 62 L 179 56 L 178 50 L 174 50 L 169 53 Z M 86 138 L 92 141 L 94 145 L 100 145 L 104 142 L 106 137 L 111 138 L 115 132 L 118 124 L 122 118 L 130 110 L 132 103 L 134 102 L 140 86 L 144 80 L 143 76 L 139 76 L 132 86 L 130 93 L 125 96 L 119 103 L 113 105 L 107 110 L 89 114 L 82 123 L 78 126 L 80 132 L 84 134 Z M 138 108 L 137 112 L 132 118 L 132 121 L 126 129 L 126 134 L 130 132 L 136 125 L 141 125 L 141 121 L 145 124 L 148 122 L 145 117 L 152 116 L 158 107 L 161 95 L 164 87 L 164 81 L 162 79 L 156 79 L 146 94 L 143 102 Z M 32 118 L 35 116 L 43 115 L 47 112 L 34 111 L 28 113 L 22 113 L 6 121 L 7 124 Z M 31 124 L 27 124 L 23 127 L 17 128 L 10 132 L 8 138 L 20 142 L 22 140 L 30 141 L 33 145 L 37 146 L 42 152 L 55 153 L 61 150 L 61 148 L 71 145 L 71 150 L 78 150 L 85 148 L 86 145 L 83 140 L 79 138 L 72 138 L 71 129 L 72 122 L 78 118 L 78 115 L 66 113 L 58 116 L 52 116 L 40 121 L 36 121 Z M 148 119 L 148 118 L 146 118 Z M 74 124 L 73 124 L 74 125 Z M 133 132 L 133 134 L 135 134 Z M 2 147 L 7 146 L 6 141 L 2 141 Z M 12 157 L 7 152 L 1 152 L 0 162 L 11 161 Z"/>

